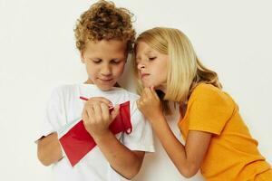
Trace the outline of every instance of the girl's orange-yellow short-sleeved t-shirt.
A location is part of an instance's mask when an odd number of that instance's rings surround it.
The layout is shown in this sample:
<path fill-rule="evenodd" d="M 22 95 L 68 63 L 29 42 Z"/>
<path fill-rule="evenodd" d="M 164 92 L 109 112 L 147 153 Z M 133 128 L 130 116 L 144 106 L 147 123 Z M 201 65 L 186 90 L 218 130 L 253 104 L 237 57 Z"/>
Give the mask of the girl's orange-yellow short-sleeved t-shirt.
<path fill-rule="evenodd" d="M 270 168 L 240 117 L 238 105 L 213 85 L 200 83 L 193 90 L 179 128 L 185 140 L 189 130 L 213 134 L 200 167 L 209 181 L 254 180 Z"/>

